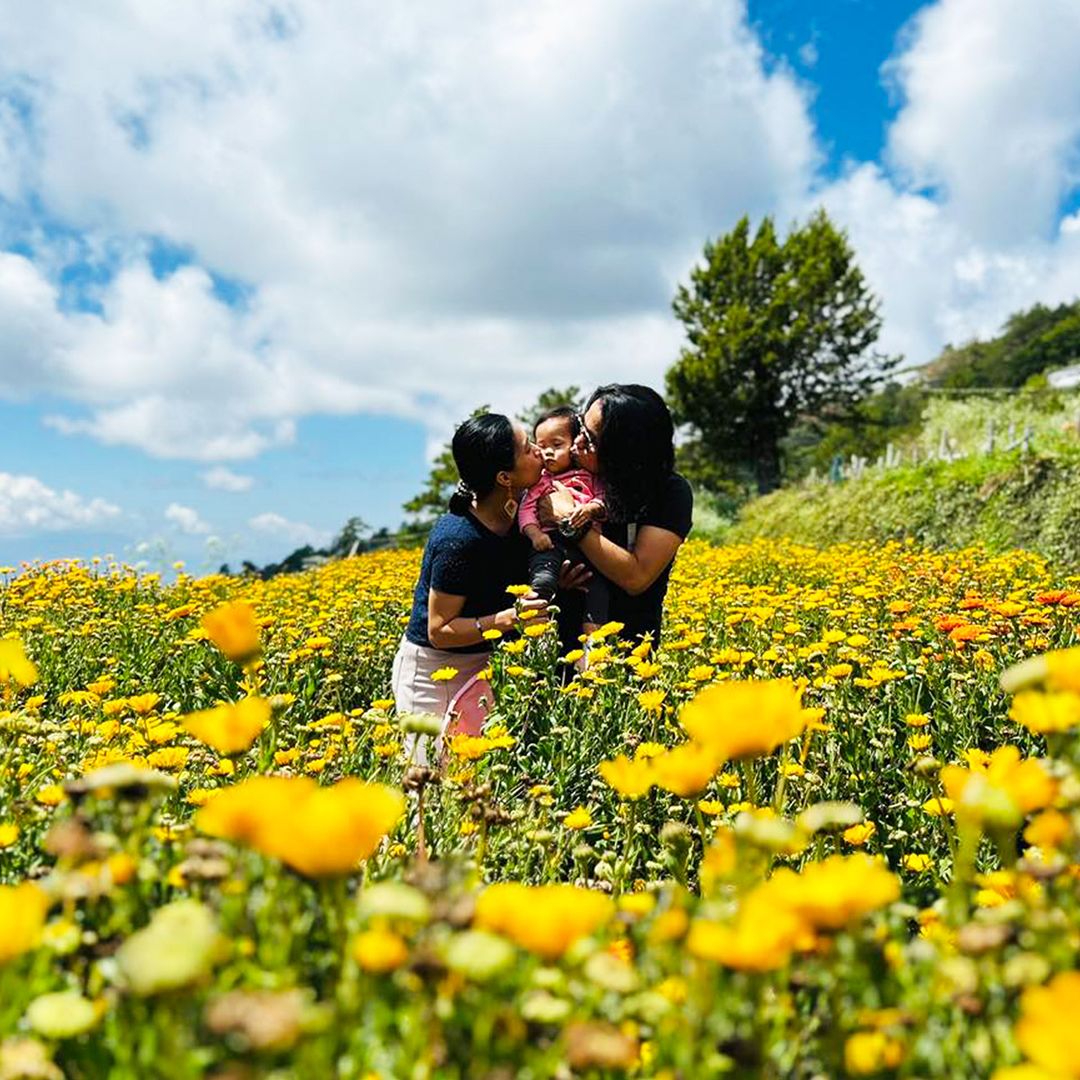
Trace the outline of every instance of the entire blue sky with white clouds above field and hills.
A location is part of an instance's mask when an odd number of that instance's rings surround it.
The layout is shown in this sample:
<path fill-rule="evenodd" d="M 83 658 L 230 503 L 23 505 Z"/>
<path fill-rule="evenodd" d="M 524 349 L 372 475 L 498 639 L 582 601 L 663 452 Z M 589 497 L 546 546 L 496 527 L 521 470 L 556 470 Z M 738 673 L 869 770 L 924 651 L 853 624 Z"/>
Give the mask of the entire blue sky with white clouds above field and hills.
<path fill-rule="evenodd" d="M 908 363 L 1074 298 L 1080 12 L 1044 8 L 9 13 L 0 564 L 394 527 L 476 404 L 660 384 L 743 213 L 826 206 Z"/>

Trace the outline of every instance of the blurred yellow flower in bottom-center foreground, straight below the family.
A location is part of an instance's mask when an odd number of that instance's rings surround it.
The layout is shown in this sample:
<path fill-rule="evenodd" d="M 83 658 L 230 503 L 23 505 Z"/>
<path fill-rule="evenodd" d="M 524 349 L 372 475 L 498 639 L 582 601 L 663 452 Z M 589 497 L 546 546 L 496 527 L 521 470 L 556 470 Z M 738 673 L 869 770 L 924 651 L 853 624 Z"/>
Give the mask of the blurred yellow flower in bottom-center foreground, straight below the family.
<path fill-rule="evenodd" d="M 611 917 L 609 896 L 572 885 L 489 886 L 476 901 L 474 926 L 509 937 L 548 960 L 594 933 Z"/>

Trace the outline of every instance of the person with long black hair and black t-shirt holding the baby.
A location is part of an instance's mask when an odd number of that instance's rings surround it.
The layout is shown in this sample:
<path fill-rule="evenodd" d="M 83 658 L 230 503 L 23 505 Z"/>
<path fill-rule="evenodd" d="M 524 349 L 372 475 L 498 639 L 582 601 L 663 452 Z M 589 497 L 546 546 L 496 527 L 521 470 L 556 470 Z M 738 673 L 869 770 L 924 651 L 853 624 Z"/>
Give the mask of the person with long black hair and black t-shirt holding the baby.
<path fill-rule="evenodd" d="M 672 563 L 690 531 L 693 492 L 675 472 L 675 427 L 664 400 L 649 387 L 599 387 L 581 417 L 575 455 L 607 489 L 608 521 L 581 522 L 582 554 L 611 582 L 610 618 L 627 637 L 660 639 Z M 579 525 L 576 508 L 552 497 L 554 518 Z M 572 607 L 567 605 L 567 607 Z M 561 623 L 561 626 L 563 623 Z"/>

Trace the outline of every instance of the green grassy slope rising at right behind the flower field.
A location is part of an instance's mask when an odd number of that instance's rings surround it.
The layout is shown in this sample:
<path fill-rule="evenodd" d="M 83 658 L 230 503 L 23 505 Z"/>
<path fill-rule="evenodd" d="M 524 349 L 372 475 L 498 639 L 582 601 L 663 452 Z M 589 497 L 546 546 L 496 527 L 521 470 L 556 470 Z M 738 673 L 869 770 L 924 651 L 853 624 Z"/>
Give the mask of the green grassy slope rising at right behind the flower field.
<path fill-rule="evenodd" d="M 1014 451 L 785 488 L 748 503 L 717 539 L 758 536 L 815 544 L 913 537 L 932 548 L 1026 548 L 1080 569 L 1080 455 L 1025 459 Z"/>

